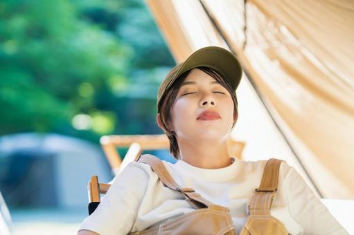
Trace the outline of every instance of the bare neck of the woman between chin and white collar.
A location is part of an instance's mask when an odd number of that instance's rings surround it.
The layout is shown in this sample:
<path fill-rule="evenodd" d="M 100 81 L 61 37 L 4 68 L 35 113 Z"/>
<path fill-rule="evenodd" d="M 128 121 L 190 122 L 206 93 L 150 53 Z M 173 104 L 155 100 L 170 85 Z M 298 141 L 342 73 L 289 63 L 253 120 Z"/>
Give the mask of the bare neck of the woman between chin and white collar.
<path fill-rule="evenodd" d="M 215 140 L 199 138 L 197 141 L 177 140 L 180 160 L 204 169 L 218 169 L 232 164 L 228 153 L 227 140 L 216 143 Z"/>

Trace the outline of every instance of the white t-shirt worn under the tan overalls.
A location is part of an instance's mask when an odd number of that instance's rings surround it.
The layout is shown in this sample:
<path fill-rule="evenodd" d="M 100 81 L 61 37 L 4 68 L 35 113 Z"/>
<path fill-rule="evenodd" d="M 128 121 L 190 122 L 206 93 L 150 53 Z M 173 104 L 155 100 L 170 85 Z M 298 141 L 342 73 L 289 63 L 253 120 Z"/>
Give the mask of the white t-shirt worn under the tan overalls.
<path fill-rule="evenodd" d="M 163 164 L 179 186 L 193 188 L 211 203 L 228 207 L 239 234 L 247 221 L 247 201 L 260 185 L 266 162 L 235 158 L 220 169 L 198 168 L 183 160 Z M 165 187 L 148 164 L 130 162 L 80 229 L 102 235 L 128 234 L 194 210 L 182 194 Z M 290 234 L 348 234 L 287 162 L 280 167 L 271 214 Z"/>

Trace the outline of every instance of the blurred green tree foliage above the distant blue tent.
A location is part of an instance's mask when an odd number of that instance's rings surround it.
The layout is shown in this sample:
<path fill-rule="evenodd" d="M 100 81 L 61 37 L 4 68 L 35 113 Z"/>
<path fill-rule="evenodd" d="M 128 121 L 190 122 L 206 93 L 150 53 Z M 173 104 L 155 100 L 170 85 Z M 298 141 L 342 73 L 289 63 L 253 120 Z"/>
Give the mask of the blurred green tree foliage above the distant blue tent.
<path fill-rule="evenodd" d="M 157 133 L 174 64 L 142 1 L 1 1 L 0 135 Z"/>

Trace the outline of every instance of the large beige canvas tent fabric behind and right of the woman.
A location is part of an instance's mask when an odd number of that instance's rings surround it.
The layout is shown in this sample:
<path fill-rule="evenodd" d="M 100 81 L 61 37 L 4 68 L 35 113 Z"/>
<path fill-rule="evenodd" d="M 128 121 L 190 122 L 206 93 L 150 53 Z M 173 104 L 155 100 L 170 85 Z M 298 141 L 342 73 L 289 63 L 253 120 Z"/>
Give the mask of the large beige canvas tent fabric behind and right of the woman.
<path fill-rule="evenodd" d="M 147 3 L 177 63 L 210 45 L 238 55 L 248 79 L 234 135 L 245 159 L 283 157 L 322 197 L 354 198 L 353 1 Z"/>

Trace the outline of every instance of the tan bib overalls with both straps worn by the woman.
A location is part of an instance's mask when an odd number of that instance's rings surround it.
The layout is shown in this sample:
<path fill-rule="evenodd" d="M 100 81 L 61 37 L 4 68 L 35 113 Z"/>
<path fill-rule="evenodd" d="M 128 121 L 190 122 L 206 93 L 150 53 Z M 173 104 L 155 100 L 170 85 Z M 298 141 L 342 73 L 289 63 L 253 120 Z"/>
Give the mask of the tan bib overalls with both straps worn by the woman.
<path fill-rule="evenodd" d="M 139 156 L 137 161 L 149 164 L 163 185 L 179 191 L 195 207 L 195 211 L 163 221 L 141 232 L 131 232 L 130 234 L 236 234 L 231 214 L 229 214 L 230 210 L 227 207 L 209 202 L 197 194 L 194 189 L 179 187 L 159 158 L 144 154 Z M 288 234 L 283 223 L 270 215 L 270 208 L 278 185 L 281 162 L 282 160 L 275 158 L 267 161 L 260 187 L 256 189 L 249 202 L 249 217 L 245 226 L 242 227 L 240 235 Z"/>

